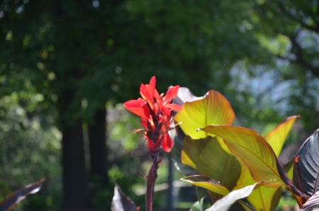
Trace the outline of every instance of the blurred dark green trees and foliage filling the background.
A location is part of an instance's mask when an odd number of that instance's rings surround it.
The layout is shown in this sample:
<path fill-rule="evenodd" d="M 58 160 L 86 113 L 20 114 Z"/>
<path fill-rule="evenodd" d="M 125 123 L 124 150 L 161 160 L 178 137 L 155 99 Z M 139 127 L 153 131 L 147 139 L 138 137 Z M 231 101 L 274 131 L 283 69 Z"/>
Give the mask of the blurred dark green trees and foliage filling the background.
<path fill-rule="evenodd" d="M 319 125 L 318 12 L 318 1 L 1 1 L 0 198 L 45 177 L 16 210 L 109 210 L 113 183 L 142 207 L 147 149 L 121 103 L 153 75 L 159 92 L 220 91 L 235 124 L 263 134 L 300 114 L 289 159 Z"/>

